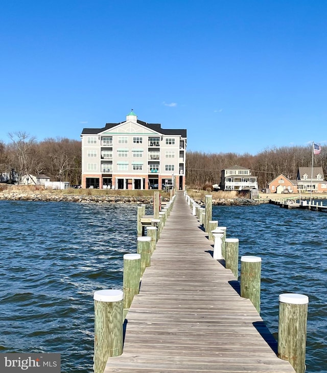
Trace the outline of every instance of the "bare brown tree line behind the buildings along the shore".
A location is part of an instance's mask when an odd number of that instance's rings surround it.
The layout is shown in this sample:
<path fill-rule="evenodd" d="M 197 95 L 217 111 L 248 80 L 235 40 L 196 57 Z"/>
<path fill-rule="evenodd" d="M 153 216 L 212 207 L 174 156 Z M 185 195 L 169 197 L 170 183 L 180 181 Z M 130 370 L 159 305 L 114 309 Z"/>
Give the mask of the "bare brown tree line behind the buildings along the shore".
<path fill-rule="evenodd" d="M 231 166 L 249 168 L 258 177 L 259 188 L 284 174 L 296 179 L 299 167 L 311 167 L 312 145 L 266 148 L 262 152 L 205 153 L 186 152 L 186 184 L 191 188 L 205 189 L 219 184 L 221 170 Z M 65 180 L 71 184 L 81 183 L 81 142 L 68 138 L 36 138 L 26 132 L 9 133 L 9 142 L 0 141 L 0 176 L 9 175 L 20 181 L 26 174 L 45 174 L 51 181 Z M 314 156 L 314 166 L 322 167 L 327 175 L 327 147 Z M 15 175 L 15 176 L 14 176 Z M 0 180 L 1 181 L 1 180 Z"/>

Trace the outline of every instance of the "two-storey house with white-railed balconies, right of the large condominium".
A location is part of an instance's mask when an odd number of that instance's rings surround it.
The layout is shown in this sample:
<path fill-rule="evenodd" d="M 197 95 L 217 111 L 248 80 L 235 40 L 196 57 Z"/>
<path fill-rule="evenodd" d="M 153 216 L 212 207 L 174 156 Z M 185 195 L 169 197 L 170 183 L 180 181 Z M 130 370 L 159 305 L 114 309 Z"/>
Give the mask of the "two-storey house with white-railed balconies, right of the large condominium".
<path fill-rule="evenodd" d="M 258 181 L 256 176 L 252 176 L 250 169 L 235 165 L 221 170 L 221 190 L 241 191 L 244 188 L 258 189 Z"/>

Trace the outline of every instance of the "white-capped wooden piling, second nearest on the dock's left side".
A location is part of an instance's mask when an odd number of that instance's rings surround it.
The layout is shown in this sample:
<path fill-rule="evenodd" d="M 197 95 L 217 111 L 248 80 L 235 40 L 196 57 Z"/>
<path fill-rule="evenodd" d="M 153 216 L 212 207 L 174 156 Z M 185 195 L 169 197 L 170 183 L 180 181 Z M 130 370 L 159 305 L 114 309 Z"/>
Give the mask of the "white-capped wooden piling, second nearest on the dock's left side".
<path fill-rule="evenodd" d="M 124 255 L 123 292 L 124 292 L 124 318 L 132 303 L 135 294 L 139 291 L 139 278 L 141 277 L 141 254 Z"/>

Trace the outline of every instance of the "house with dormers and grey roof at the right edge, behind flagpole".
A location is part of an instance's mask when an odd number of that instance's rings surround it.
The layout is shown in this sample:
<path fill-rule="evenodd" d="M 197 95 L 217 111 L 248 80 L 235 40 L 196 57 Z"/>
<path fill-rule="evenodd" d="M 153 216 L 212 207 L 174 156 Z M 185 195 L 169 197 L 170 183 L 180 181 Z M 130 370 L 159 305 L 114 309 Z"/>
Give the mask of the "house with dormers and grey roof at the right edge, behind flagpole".
<path fill-rule="evenodd" d="M 311 179 L 312 172 L 312 179 Z M 299 167 L 297 171 L 297 188 L 299 192 L 327 193 L 322 167 Z"/>

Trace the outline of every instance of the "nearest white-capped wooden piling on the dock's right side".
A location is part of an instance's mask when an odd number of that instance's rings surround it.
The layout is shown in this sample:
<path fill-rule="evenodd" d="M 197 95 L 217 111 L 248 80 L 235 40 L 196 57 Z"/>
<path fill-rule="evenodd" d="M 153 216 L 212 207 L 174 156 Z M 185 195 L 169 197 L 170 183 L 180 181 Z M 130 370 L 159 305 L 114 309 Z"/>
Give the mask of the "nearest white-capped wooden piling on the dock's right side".
<path fill-rule="evenodd" d="M 289 293 L 278 300 L 278 357 L 288 360 L 296 373 L 305 373 L 309 297 Z"/>

